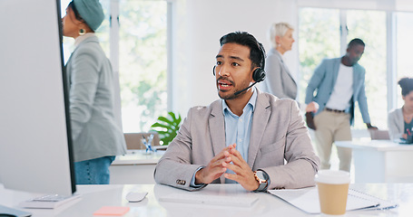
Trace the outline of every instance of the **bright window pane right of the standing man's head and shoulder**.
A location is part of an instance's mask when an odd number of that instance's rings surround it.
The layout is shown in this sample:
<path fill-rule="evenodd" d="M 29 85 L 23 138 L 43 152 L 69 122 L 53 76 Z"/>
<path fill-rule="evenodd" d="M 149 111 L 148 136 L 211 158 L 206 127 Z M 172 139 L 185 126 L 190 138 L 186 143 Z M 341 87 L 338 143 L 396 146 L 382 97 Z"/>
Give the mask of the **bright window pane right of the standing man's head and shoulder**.
<path fill-rule="evenodd" d="M 387 42 L 386 13 L 380 11 L 349 10 L 348 41 L 360 38 L 366 49 L 359 64 L 366 69 L 366 96 L 369 104 L 371 123 L 387 128 Z M 355 110 L 355 127 L 366 128 L 359 109 Z"/>

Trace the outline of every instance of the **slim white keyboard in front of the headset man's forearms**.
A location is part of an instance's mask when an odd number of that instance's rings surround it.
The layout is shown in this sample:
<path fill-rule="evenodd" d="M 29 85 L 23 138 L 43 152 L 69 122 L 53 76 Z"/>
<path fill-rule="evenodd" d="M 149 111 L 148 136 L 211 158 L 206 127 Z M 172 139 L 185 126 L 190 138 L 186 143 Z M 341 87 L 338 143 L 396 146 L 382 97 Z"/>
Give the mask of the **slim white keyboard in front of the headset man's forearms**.
<path fill-rule="evenodd" d="M 258 201 L 258 197 L 209 195 L 201 193 L 171 193 L 160 197 L 159 201 L 246 207 L 251 206 L 253 203 Z"/>

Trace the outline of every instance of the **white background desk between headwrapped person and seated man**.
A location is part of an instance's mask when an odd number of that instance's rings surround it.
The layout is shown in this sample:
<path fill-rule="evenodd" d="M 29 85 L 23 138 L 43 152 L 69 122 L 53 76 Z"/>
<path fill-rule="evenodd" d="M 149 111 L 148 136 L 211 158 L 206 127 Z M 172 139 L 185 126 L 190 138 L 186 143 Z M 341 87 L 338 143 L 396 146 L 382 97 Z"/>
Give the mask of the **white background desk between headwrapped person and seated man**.
<path fill-rule="evenodd" d="M 145 150 L 127 150 L 126 155 L 116 156 L 109 171 L 111 184 L 155 184 L 153 171 L 165 151 L 147 155 Z"/>

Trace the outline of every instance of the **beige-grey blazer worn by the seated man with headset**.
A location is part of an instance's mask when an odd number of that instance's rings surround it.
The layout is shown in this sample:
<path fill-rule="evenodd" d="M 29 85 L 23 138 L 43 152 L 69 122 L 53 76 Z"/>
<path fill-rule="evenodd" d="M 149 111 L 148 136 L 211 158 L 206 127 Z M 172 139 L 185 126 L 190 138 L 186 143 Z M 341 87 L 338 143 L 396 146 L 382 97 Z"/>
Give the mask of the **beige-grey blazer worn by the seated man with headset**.
<path fill-rule="evenodd" d="M 190 109 L 177 137 L 156 166 L 156 183 L 195 190 L 190 186 L 192 175 L 224 147 L 221 99 L 208 107 Z M 269 189 L 314 185 L 320 159 L 294 100 L 258 92 L 247 162 L 253 171 L 262 169 L 270 175 Z M 225 177 L 221 175 L 212 183 L 223 184 Z"/>

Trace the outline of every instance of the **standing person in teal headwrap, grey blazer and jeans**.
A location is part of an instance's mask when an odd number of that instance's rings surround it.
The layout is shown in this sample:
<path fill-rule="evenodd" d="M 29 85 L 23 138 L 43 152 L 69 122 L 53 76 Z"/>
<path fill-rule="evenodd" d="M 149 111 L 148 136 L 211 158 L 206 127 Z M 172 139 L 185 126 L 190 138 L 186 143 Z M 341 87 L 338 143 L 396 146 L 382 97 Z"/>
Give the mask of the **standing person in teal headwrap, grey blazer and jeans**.
<path fill-rule="evenodd" d="M 114 73 L 94 31 L 104 18 L 98 0 L 74 0 L 62 18 L 64 36 L 74 38 L 66 64 L 74 140 L 76 184 L 109 184 L 109 166 L 126 153 L 114 114 Z"/>

